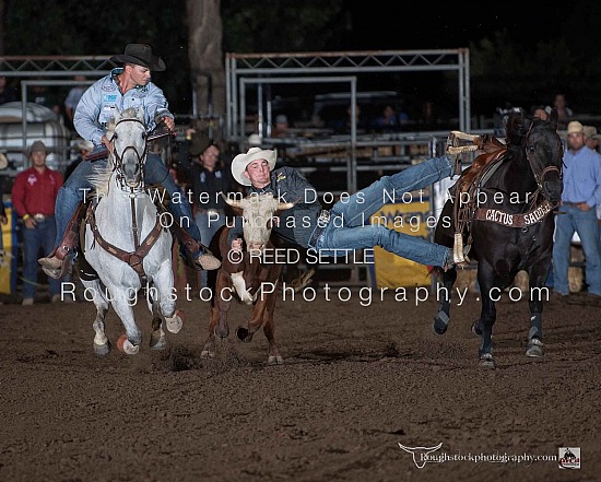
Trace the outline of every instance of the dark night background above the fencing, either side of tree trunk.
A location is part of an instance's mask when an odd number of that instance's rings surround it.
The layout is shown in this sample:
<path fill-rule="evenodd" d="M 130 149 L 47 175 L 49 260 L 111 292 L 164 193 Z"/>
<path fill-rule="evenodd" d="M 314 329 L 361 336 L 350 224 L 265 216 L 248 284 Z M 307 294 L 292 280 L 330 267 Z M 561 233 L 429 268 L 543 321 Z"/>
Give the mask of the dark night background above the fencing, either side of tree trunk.
<path fill-rule="evenodd" d="M 176 113 L 190 113 L 186 2 L 132 0 L 102 7 L 75 0 L 4 2 L 4 55 L 114 55 L 131 42 L 155 47 L 168 66 L 156 73 Z M 566 94 L 578 113 L 601 115 L 601 4 L 589 0 L 412 4 L 380 1 L 222 0 L 224 52 L 470 49 L 472 113 L 509 103 L 550 104 Z M 455 82 L 449 81 L 449 85 Z M 373 78 L 361 89 L 399 90 L 419 116 L 441 111 L 456 89 L 433 75 Z"/>

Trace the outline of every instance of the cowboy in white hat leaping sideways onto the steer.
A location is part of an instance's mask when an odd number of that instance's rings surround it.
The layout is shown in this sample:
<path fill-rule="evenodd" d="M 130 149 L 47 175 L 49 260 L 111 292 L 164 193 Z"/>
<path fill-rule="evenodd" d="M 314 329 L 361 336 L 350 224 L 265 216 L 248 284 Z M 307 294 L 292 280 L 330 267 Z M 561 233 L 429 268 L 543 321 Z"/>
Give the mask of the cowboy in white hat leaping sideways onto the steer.
<path fill-rule="evenodd" d="M 452 248 L 437 245 L 417 236 L 390 230 L 380 223 L 369 224 L 369 218 L 385 203 L 387 197 L 403 202 L 403 195 L 452 177 L 455 161 L 446 155 L 431 158 L 392 176 L 384 176 L 370 186 L 325 210 L 316 189 L 296 169 L 275 168 L 276 152 L 251 148 L 232 162 L 232 176 L 250 195 L 271 192 L 280 202 L 293 202 L 273 226 L 273 233 L 297 246 L 319 252 L 319 256 L 345 256 L 347 250 L 380 246 L 422 264 L 449 267 Z M 243 248 L 241 220 L 236 218 L 228 242 L 233 250 Z"/>

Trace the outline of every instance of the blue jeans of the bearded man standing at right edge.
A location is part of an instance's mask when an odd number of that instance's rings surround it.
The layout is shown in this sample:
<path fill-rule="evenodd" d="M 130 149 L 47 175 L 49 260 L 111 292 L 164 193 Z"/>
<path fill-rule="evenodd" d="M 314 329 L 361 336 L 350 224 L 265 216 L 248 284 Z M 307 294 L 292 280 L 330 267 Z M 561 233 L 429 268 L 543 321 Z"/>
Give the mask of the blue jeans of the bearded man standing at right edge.
<path fill-rule="evenodd" d="M 553 286 L 562 294 L 569 294 L 568 268 L 574 232 L 580 236 L 585 252 L 585 277 L 588 292 L 601 295 L 601 248 L 594 209 L 582 211 L 575 205 L 563 204 L 555 216 L 553 243 Z"/>

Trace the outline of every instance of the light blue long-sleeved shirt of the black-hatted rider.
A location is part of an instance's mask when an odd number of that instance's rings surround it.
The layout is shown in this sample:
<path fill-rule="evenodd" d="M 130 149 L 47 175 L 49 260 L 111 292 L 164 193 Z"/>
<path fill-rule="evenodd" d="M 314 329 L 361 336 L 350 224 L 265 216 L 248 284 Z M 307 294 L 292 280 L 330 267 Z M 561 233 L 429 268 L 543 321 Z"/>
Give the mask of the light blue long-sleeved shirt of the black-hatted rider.
<path fill-rule="evenodd" d="M 101 145 L 108 121 L 115 116 L 115 108 L 123 110 L 129 107 L 144 109 L 145 124 L 151 131 L 162 117 L 170 117 L 169 105 L 163 91 L 152 82 L 129 90 L 125 95 L 119 90 L 116 77 L 123 71 L 116 68 L 108 75 L 94 82 L 83 93 L 75 115 L 73 126 L 78 133 L 94 145 Z"/>

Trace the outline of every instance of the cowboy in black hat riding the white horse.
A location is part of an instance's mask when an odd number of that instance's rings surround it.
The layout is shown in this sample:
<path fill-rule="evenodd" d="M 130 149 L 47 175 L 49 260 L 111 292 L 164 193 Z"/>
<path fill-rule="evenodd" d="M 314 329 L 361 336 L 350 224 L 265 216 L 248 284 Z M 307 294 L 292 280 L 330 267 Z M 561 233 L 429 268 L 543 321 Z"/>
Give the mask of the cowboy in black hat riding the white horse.
<path fill-rule="evenodd" d="M 174 116 L 169 111 L 163 91 L 151 82 L 152 71 L 166 69 L 165 62 L 153 54 L 152 47 L 145 44 L 129 44 L 123 55 L 113 56 L 110 60 L 123 66 L 113 69 L 108 75 L 93 83 L 82 95 L 75 109 L 75 130 L 82 139 L 94 144 L 89 158 L 96 161 L 94 164 L 90 161 L 82 162 L 59 191 L 56 203 L 56 247 L 48 257 L 39 259 L 46 274 L 54 279 L 62 278 L 69 270 L 69 260 L 72 258 L 78 238 L 78 216 L 74 214 L 79 211 L 84 193 L 92 188 L 90 178 L 96 171 L 95 166 L 97 163 L 106 165 L 107 160 L 102 158 L 102 153 L 108 155 L 111 144 L 105 136 L 105 129 L 114 117 L 115 109 L 142 107 L 149 131 L 154 130 L 160 124 L 165 125 L 170 131 L 175 129 Z M 217 269 L 221 261 L 201 244 L 190 204 L 157 154 L 146 154 L 144 174 L 146 184 L 161 184 L 169 193 L 169 211 L 175 220 L 182 223 L 181 227 L 185 230 L 174 226 L 180 246 L 185 248 L 185 260 L 199 270 Z"/>

